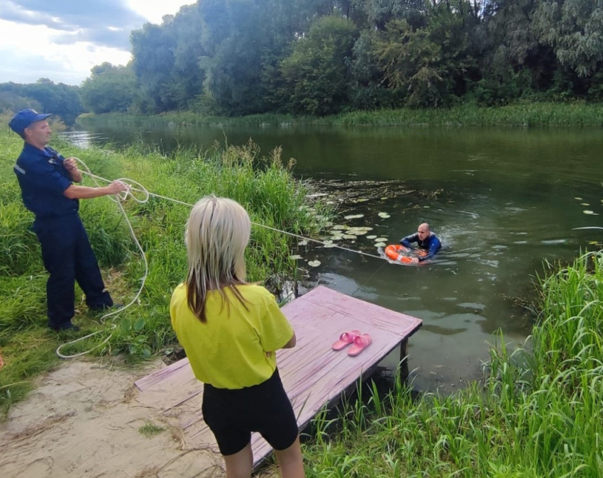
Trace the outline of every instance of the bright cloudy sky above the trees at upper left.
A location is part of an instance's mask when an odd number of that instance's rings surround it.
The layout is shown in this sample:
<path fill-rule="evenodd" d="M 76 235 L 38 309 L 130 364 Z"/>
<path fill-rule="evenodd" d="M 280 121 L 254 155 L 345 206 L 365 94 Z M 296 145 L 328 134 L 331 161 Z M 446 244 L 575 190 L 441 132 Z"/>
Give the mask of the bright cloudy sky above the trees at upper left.
<path fill-rule="evenodd" d="M 130 33 L 195 0 L 0 0 L 0 83 L 81 84 L 131 60 Z"/>

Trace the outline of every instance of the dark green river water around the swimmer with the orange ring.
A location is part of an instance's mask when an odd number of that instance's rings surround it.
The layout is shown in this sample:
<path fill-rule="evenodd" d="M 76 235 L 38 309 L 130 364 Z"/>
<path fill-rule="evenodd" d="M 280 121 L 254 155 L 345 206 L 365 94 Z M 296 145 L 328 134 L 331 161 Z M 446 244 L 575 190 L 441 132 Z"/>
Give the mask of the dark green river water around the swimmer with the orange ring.
<path fill-rule="evenodd" d="M 499 332 L 511 347 L 529 335 L 531 316 L 518 304 L 533 298 L 543 261 L 569 262 L 603 242 L 602 231 L 575 230 L 603 226 L 598 128 L 139 125 L 87 126 L 67 134 L 84 147 L 143 141 L 167 151 L 253 138 L 265 153 L 281 145 L 285 160 L 297 160 L 300 178 L 339 179 L 350 187 L 360 180 L 401 182 L 408 194 L 359 202 L 345 214 L 363 217 L 341 222 L 370 226 L 367 235 L 397 243 L 428 221 L 443 243 L 431 264 L 392 265 L 337 248 L 295 252 L 321 262 L 315 268 L 300 262 L 311 282 L 424 321 L 409 341 L 409 367 L 419 389 L 453 391 L 481 377 Z M 367 235 L 343 245 L 377 254 Z"/>

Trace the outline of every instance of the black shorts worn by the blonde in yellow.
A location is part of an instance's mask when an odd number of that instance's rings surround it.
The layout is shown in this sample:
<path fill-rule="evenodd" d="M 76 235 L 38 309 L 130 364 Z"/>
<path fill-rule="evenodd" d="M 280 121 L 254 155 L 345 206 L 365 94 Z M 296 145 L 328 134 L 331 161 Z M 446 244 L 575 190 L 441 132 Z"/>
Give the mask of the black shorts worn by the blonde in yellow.
<path fill-rule="evenodd" d="M 201 411 L 222 455 L 243 450 L 253 431 L 275 450 L 289 448 L 297 438 L 297 420 L 278 369 L 253 387 L 229 390 L 204 384 Z"/>

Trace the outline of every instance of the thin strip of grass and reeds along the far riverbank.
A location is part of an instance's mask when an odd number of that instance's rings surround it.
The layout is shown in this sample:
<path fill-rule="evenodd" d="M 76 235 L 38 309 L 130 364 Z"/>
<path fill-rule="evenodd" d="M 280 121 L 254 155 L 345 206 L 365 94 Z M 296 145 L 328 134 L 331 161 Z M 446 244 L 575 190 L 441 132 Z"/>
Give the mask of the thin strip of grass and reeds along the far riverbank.
<path fill-rule="evenodd" d="M 194 111 L 134 116 L 118 113 L 78 118 L 83 125 L 157 124 L 166 126 L 603 126 L 603 104 L 526 103 L 492 108 L 461 105 L 450 109 L 384 109 L 353 111 L 335 116 L 290 116 L 262 114 L 226 118 L 203 116 Z"/>

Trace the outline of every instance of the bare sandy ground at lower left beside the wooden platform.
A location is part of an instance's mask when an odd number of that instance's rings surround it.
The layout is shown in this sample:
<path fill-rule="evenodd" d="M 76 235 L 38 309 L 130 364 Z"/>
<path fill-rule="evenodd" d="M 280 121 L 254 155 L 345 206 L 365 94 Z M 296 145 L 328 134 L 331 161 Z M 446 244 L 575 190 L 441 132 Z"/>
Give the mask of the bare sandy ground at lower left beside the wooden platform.
<path fill-rule="evenodd" d="M 162 367 L 65 362 L 0 423 L 2 478 L 222 477 L 223 461 L 191 448 L 175 417 L 136 400 L 136 379 Z M 162 427 L 146 438 L 147 423 Z"/>

